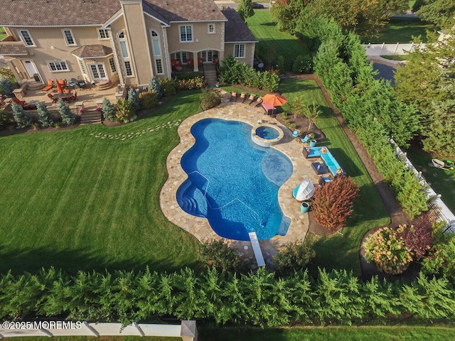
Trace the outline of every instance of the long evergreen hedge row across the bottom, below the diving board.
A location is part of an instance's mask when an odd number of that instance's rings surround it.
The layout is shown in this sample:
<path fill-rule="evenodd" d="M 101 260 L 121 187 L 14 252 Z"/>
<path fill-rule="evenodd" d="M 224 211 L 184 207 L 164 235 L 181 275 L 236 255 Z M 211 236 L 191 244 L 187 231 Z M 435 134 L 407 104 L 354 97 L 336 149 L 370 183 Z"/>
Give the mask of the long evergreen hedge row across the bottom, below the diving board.
<path fill-rule="evenodd" d="M 191 269 L 174 274 L 129 271 L 68 276 L 54 269 L 0 278 L 0 318 L 59 316 L 67 320 L 151 321 L 164 317 L 215 323 L 278 326 L 352 323 L 402 318 L 453 320 L 455 290 L 445 278 L 420 275 L 407 285 L 362 283 L 346 271 L 306 272 L 287 278 L 259 269 L 256 274 L 223 274 Z"/>

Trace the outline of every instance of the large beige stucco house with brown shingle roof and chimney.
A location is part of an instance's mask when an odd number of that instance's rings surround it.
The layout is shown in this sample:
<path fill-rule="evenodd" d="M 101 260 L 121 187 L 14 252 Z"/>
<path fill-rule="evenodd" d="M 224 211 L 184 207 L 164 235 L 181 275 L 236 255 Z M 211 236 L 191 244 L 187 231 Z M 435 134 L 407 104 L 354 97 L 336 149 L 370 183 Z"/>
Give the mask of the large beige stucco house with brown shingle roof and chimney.
<path fill-rule="evenodd" d="M 148 85 L 173 65 L 194 71 L 232 53 L 252 65 L 257 40 L 213 0 L 3 0 L 0 55 L 18 80 L 81 78 Z"/>

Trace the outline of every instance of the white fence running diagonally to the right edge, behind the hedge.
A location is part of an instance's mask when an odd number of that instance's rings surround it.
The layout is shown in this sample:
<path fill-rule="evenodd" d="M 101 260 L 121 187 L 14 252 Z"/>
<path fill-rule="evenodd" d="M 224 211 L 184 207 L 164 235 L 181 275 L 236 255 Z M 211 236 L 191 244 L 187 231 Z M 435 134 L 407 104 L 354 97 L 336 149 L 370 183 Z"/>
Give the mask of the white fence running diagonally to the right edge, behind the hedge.
<path fill-rule="evenodd" d="M 429 202 L 431 202 L 433 205 L 437 205 L 439 208 L 439 219 L 443 220 L 446 223 L 447 230 L 450 230 L 451 232 L 455 232 L 455 215 L 454 213 L 449 210 L 449 207 L 444 203 L 444 201 L 441 200 L 441 195 L 437 194 L 434 192 L 433 188 L 430 187 L 430 185 L 427 183 L 427 180 L 422 176 L 422 172 L 417 171 L 417 169 L 414 167 L 414 165 L 411 163 L 410 159 L 407 158 L 406 153 L 404 153 L 397 144 L 395 144 L 395 141 L 390 140 L 392 144 L 396 148 L 397 156 L 399 156 L 403 161 L 406 163 L 406 167 L 412 170 L 417 179 L 420 180 L 420 184 L 424 185 L 424 192 L 427 194 L 427 197 L 429 199 Z"/>

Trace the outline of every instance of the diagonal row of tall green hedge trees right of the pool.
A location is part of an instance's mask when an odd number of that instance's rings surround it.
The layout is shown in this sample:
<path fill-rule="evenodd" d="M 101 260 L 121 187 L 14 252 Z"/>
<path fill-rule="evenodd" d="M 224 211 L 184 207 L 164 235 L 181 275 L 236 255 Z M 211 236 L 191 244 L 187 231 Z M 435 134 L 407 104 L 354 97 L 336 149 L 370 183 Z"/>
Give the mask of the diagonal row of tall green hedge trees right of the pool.
<path fill-rule="evenodd" d="M 404 161 L 397 158 L 390 143 L 393 138 L 400 146 L 408 146 L 419 130 L 417 110 L 396 99 L 389 82 L 374 79 L 375 71 L 358 36 L 341 33 L 336 23 L 326 19 L 314 21 L 314 26 L 311 34 L 319 26 L 330 33 L 320 36 L 314 58 L 316 74 L 350 129 L 367 148 L 403 210 L 410 217 L 420 215 L 428 210 L 424 188 Z M 333 28 L 327 30 L 328 26 Z"/>

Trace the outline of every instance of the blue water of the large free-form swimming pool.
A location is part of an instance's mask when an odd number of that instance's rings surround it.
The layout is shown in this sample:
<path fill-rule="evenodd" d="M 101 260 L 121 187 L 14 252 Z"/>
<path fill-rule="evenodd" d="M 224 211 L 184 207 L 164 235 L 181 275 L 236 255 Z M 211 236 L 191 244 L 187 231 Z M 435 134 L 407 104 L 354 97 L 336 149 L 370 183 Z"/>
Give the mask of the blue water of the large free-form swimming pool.
<path fill-rule="evenodd" d="M 253 231 L 259 240 L 285 235 L 290 222 L 278 190 L 292 163 L 274 148 L 257 146 L 251 129 L 238 121 L 198 121 L 191 128 L 196 143 L 181 158 L 188 179 L 177 190 L 178 205 L 229 239 L 249 240 Z"/>

